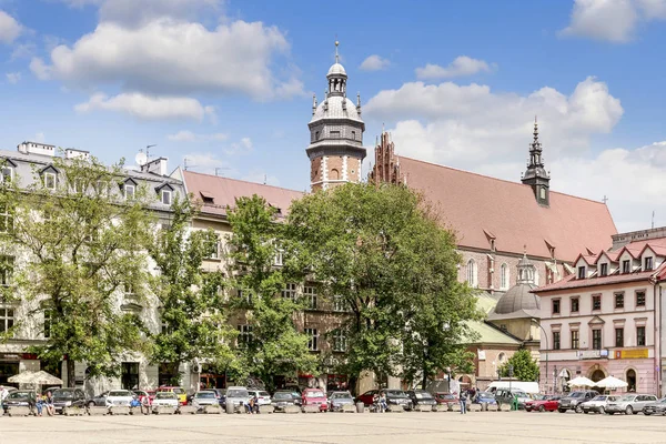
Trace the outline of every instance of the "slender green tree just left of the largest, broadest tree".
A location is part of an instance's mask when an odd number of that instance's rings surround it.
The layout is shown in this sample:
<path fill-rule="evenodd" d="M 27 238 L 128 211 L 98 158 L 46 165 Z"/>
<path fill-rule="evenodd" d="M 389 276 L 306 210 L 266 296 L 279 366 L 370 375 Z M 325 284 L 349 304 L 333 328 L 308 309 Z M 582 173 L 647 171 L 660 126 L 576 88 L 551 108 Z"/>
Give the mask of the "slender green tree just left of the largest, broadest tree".
<path fill-rule="evenodd" d="M 275 265 L 275 254 L 284 240 L 284 224 L 276 215 L 276 210 L 258 195 L 236 199 L 229 212 L 229 274 L 236 289 L 231 301 L 251 327 L 251 334 L 239 337 L 239 350 L 250 374 L 260 377 L 269 390 L 274 387 L 274 376 L 295 376 L 299 371 L 311 373 L 316 369 L 316 359 L 307 349 L 309 339 L 294 324 L 301 304 L 281 297 L 292 275 L 286 252 L 284 266 Z"/>

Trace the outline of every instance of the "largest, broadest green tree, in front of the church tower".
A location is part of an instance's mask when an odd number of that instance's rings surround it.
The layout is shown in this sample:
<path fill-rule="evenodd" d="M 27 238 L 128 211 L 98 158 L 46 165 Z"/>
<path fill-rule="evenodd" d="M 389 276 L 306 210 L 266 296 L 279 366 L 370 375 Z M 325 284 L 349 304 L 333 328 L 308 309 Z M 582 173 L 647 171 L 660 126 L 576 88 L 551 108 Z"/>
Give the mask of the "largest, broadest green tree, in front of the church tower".
<path fill-rule="evenodd" d="M 454 235 L 404 186 L 346 184 L 295 202 L 289 216 L 300 268 L 350 309 L 343 371 L 425 384 L 437 370 L 466 369 L 461 345 L 477 319 L 456 281 Z"/>

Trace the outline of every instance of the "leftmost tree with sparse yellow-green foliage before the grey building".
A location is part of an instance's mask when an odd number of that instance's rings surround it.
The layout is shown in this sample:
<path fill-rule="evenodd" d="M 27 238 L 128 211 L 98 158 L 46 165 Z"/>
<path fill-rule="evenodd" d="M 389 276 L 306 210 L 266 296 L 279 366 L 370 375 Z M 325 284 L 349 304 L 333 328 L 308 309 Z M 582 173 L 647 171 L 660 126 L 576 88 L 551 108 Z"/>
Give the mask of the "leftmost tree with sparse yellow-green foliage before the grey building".
<path fill-rule="evenodd" d="M 120 357 L 145 346 L 139 316 L 118 301 L 127 287 L 144 294 L 147 194 L 123 196 L 122 162 L 54 158 L 32 175 L 0 186 L 2 275 L 13 281 L 3 297 L 24 302 L 18 329 L 46 336 L 31 352 L 52 364 L 67 357 L 70 386 L 74 362 L 90 376 L 117 376 Z"/>

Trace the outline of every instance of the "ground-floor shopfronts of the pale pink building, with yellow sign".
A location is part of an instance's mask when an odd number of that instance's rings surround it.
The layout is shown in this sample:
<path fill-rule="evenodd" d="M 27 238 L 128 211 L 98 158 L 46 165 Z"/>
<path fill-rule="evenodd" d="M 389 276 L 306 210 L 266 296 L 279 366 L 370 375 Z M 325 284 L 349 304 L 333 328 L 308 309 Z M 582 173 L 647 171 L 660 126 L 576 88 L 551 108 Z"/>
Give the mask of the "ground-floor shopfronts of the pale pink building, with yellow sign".
<path fill-rule="evenodd" d="M 541 362 L 541 374 L 548 375 L 548 381 L 542 376 L 539 386 L 555 387 L 555 393 L 569 391 L 567 382 L 577 376 L 585 376 L 593 382 L 598 382 L 607 376 L 625 381 L 627 389 L 617 393 L 636 392 L 660 395 L 658 390 L 658 362 L 652 349 L 594 351 L 595 353 L 579 352 L 577 357 L 562 360 L 549 356 L 548 369 Z M 555 357 L 555 359 L 553 359 Z"/>

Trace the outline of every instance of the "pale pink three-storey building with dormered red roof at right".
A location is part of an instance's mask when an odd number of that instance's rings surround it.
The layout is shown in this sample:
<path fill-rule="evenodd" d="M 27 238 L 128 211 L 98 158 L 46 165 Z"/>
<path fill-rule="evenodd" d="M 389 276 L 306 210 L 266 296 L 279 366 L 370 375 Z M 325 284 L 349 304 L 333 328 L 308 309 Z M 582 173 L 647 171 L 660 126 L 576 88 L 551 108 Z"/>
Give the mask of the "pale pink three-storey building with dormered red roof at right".
<path fill-rule="evenodd" d="M 542 374 L 556 391 L 576 376 L 615 376 L 627 391 L 663 393 L 664 229 L 618 234 L 612 249 L 591 253 L 578 255 L 574 274 L 535 290 L 549 364 L 542 360 Z"/>

